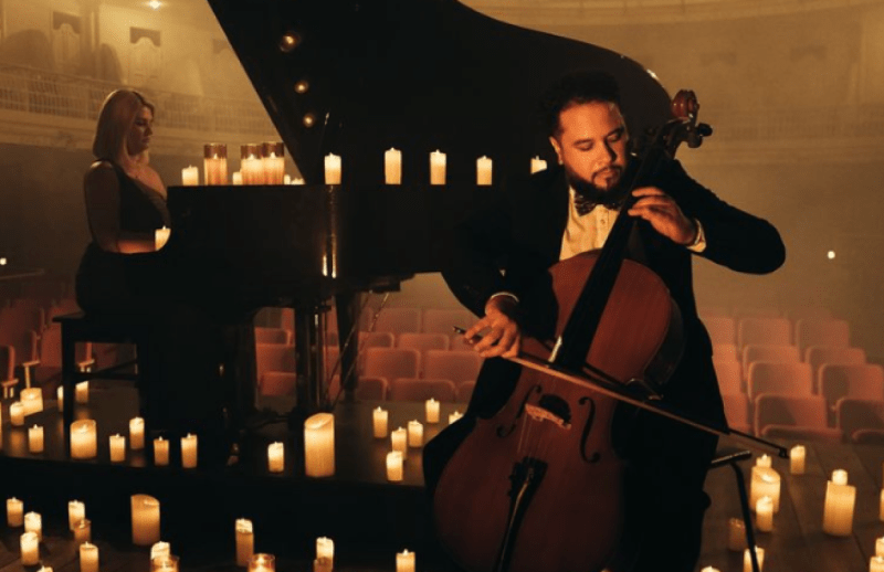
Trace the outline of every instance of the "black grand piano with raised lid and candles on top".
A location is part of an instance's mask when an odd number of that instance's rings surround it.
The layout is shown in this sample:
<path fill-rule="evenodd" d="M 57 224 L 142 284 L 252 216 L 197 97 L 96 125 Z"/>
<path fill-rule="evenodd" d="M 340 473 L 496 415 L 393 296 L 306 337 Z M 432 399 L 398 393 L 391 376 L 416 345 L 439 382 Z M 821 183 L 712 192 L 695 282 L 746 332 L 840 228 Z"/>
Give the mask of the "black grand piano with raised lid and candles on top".
<path fill-rule="evenodd" d="M 592 44 L 509 25 L 455 0 L 209 0 L 304 187 L 172 187 L 167 248 L 230 306 L 296 310 L 297 409 L 324 404 L 326 301 L 340 331 L 357 294 L 391 289 L 445 264 L 446 233 L 506 192 L 532 157 L 554 160 L 538 128 L 543 91 L 566 72 L 619 81 L 633 137 L 669 118 L 669 96 L 634 61 Z M 383 152 L 402 151 L 402 184 L 383 183 Z M 430 152 L 448 155 L 431 187 Z M 343 180 L 324 184 L 324 157 Z M 494 161 L 476 186 L 476 159 Z M 341 352 L 341 371 L 355 347 Z M 344 380 L 352 390 L 355 379 Z"/>

